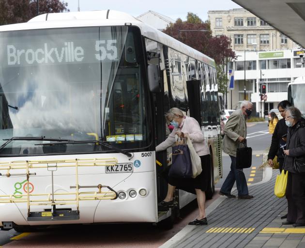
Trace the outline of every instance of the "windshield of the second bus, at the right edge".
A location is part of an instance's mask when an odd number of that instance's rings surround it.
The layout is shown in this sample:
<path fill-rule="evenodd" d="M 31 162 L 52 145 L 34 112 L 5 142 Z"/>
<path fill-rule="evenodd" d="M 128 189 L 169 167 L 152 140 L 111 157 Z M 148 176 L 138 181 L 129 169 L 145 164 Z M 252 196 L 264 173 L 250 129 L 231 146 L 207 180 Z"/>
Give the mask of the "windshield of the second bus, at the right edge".
<path fill-rule="evenodd" d="M 302 115 L 305 115 L 305 84 L 290 84 L 288 87 L 288 101 L 290 103 L 300 109 Z"/>

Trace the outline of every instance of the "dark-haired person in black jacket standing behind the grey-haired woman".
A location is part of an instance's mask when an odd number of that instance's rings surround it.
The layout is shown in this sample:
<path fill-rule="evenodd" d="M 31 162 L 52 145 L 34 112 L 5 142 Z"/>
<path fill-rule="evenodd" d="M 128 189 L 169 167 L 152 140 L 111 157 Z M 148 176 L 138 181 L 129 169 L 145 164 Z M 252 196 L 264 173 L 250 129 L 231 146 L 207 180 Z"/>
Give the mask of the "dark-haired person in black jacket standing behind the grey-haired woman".
<path fill-rule="evenodd" d="M 277 155 L 277 162 L 279 163 L 279 170 L 282 172 L 284 164 L 284 149 L 286 149 L 286 140 L 288 126 L 285 124 L 285 112 L 286 109 L 291 106 L 291 103 L 287 100 L 281 101 L 277 109 L 280 112 L 283 119 L 279 120 L 274 128 L 272 135 L 271 146 L 268 153 L 268 163 L 270 166 L 274 166 L 273 159 Z M 282 147 L 282 148 L 281 148 Z"/>

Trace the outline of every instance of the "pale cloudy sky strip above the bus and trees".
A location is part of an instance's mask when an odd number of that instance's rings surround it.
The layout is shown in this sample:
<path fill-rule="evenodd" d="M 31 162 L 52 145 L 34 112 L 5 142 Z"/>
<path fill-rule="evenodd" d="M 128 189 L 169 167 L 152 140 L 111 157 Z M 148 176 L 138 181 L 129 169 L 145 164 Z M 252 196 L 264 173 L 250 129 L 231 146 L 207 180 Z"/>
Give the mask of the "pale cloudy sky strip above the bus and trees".
<path fill-rule="evenodd" d="M 78 0 L 63 0 L 71 12 L 77 11 Z M 231 0 L 79 0 L 80 11 L 117 10 L 139 16 L 149 10 L 176 20 L 185 20 L 187 12 L 197 14 L 203 21 L 208 19 L 209 10 L 241 8 Z"/>

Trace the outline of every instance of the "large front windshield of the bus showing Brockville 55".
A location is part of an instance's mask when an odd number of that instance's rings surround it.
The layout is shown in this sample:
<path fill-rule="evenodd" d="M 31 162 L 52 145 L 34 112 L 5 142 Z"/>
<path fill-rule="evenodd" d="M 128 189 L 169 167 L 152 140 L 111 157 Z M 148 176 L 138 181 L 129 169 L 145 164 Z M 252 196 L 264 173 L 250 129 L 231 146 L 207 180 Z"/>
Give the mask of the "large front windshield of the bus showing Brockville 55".
<path fill-rule="evenodd" d="M 0 155 L 109 151 L 149 144 L 143 52 L 135 27 L 0 33 Z M 139 43 L 139 44 L 137 44 Z M 146 101 L 145 101 L 146 99 Z M 111 150 L 111 149 L 110 149 Z"/>

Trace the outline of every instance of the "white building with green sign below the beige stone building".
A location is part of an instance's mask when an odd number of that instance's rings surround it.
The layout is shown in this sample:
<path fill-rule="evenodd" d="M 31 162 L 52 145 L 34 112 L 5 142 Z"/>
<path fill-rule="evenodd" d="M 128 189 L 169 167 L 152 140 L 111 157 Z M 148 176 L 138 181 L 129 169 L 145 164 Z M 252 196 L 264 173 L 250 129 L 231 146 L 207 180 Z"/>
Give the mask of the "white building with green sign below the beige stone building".
<path fill-rule="evenodd" d="M 228 109 L 236 109 L 244 100 L 245 85 L 245 99 L 254 103 L 257 116 L 260 115 L 260 110 L 266 115 L 270 109 L 276 109 L 280 101 L 287 100 L 287 84 L 295 78 L 305 76 L 305 68 L 300 64 L 297 49 L 235 52 L 237 61 L 230 62 L 228 68 L 234 69 L 235 81 L 234 89 L 228 93 Z M 262 101 L 261 109 L 259 81 L 267 84 L 267 100 Z"/>

